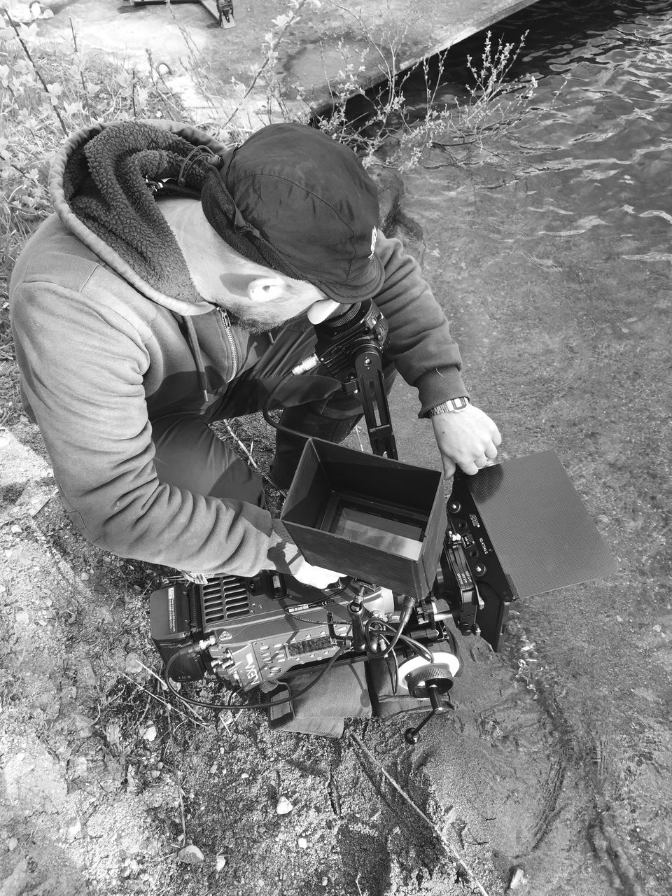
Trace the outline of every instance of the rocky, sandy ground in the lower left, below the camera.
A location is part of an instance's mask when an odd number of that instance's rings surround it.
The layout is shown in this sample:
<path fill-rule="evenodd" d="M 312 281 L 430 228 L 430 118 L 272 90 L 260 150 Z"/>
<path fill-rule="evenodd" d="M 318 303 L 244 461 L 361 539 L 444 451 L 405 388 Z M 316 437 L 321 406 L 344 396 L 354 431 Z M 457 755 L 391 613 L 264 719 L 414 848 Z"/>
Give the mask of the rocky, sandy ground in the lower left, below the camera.
<path fill-rule="evenodd" d="M 516 869 L 440 805 L 403 720 L 332 741 L 168 699 L 162 571 L 82 542 L 25 421 L 0 434 L 0 474 L 3 896 L 504 891 Z"/>

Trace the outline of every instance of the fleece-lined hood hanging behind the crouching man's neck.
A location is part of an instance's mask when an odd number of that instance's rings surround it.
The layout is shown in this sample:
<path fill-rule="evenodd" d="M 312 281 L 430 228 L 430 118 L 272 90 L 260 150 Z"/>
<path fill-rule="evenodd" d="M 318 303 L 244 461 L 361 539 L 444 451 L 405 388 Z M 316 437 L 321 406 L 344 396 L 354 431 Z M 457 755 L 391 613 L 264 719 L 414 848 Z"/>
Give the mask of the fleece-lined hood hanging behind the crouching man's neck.
<path fill-rule="evenodd" d="M 116 273 L 169 311 L 207 314 L 155 201 L 155 184 L 198 195 L 225 147 L 173 122 L 109 122 L 65 143 L 49 174 L 54 211 Z"/>

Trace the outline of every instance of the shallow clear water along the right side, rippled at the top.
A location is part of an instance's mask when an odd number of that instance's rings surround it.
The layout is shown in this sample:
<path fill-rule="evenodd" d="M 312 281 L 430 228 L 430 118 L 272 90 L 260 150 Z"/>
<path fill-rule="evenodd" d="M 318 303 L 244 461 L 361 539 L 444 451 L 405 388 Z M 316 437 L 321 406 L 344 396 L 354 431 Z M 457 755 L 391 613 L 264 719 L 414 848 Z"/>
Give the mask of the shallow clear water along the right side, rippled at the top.
<path fill-rule="evenodd" d="M 405 176 L 409 245 L 504 458 L 556 451 L 619 573 L 520 601 L 504 659 L 456 683 L 456 728 L 427 732 L 426 769 L 442 805 L 478 780 L 461 811 L 493 807 L 480 834 L 531 892 L 667 896 L 672 4 L 548 0 L 492 31 L 529 31 L 511 76 L 537 78 L 532 108 Z M 452 48 L 438 101 L 464 95 L 483 41 Z M 421 116 L 422 79 L 405 92 Z"/>

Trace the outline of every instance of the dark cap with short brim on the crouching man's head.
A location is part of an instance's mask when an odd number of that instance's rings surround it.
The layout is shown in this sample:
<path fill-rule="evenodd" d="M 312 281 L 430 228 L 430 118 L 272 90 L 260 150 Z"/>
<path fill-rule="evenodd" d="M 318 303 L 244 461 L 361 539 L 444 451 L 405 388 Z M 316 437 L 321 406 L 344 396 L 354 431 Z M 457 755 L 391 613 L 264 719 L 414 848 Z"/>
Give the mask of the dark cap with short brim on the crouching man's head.
<path fill-rule="evenodd" d="M 252 261 L 337 302 L 372 298 L 378 194 L 357 155 L 308 125 L 268 125 L 229 151 L 201 194 L 211 227 Z"/>

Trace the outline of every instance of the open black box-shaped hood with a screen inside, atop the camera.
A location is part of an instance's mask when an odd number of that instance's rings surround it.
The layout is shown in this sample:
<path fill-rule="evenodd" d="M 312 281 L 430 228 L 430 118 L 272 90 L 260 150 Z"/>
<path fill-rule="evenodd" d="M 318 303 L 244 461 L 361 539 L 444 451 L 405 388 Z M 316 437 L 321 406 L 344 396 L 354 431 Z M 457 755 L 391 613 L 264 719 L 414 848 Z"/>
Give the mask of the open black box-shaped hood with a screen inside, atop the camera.
<path fill-rule="evenodd" d="M 420 599 L 444 547 L 444 477 L 309 439 L 280 519 L 308 563 Z"/>

